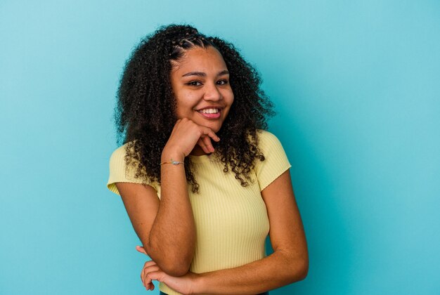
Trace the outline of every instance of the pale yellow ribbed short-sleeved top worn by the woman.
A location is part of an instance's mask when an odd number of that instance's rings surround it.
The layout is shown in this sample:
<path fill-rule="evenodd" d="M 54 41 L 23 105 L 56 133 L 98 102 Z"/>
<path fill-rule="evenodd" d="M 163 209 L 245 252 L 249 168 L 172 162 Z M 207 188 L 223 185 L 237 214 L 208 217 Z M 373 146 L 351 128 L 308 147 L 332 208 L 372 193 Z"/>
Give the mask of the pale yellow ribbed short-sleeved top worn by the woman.
<path fill-rule="evenodd" d="M 197 241 L 190 265 L 193 273 L 235 268 L 266 256 L 265 240 L 269 231 L 266 205 L 261 190 L 290 168 L 282 145 L 268 131 L 259 133 L 259 148 L 266 158 L 257 160 L 252 183 L 242 187 L 235 174 L 224 173 L 224 166 L 214 155 L 190 156 L 200 193 L 188 190 L 195 218 Z M 108 188 L 119 195 L 115 183 L 142 183 L 124 162 L 124 146 L 110 157 Z M 148 183 L 160 198 L 160 185 Z M 160 291 L 179 294 L 160 283 Z"/>

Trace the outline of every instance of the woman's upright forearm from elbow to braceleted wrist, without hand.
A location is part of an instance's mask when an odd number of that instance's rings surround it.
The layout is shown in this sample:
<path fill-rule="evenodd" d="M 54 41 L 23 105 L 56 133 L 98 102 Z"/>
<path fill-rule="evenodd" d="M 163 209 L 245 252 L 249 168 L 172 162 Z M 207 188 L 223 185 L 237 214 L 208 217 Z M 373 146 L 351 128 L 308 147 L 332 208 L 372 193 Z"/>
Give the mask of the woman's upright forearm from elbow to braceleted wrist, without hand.
<path fill-rule="evenodd" d="M 162 162 L 168 162 L 169 157 L 164 155 Z M 183 160 L 178 157 L 173 159 Z M 195 249 L 195 223 L 183 164 L 162 165 L 160 206 L 147 248 L 162 269 L 172 268 L 174 275 L 188 271 Z"/>

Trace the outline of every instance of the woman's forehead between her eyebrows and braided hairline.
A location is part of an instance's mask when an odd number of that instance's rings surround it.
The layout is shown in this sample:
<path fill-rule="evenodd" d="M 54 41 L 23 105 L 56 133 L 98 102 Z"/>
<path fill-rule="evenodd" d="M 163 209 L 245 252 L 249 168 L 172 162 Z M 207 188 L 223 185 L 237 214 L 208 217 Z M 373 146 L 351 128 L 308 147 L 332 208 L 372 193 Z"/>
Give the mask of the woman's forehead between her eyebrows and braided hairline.
<path fill-rule="evenodd" d="M 199 72 L 219 72 L 227 70 L 223 57 L 212 46 L 206 48 L 194 47 L 186 51 L 179 60 L 172 62 L 173 72 L 185 72 L 196 70 Z"/>

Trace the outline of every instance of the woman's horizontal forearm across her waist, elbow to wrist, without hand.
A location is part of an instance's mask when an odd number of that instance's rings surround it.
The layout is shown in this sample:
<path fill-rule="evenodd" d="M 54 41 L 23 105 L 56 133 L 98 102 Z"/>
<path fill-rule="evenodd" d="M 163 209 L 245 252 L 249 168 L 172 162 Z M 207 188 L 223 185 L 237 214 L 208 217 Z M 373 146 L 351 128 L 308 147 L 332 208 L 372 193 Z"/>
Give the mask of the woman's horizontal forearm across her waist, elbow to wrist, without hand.
<path fill-rule="evenodd" d="M 238 268 L 202 273 L 195 279 L 194 294 L 259 294 L 306 277 L 307 258 L 275 251 Z"/>

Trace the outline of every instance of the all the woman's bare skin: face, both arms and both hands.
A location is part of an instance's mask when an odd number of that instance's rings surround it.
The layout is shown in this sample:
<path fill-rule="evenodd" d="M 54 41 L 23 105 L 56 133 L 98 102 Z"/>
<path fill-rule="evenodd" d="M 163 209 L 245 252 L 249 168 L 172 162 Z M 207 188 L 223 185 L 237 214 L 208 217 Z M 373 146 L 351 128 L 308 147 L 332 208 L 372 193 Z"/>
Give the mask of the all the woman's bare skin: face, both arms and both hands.
<path fill-rule="evenodd" d="M 171 81 L 179 120 L 162 151 L 162 162 L 214 152 L 211 140 L 219 140 L 215 132 L 233 104 L 226 71 L 223 58 L 212 47 L 190 49 L 173 64 Z M 221 108 L 220 117 L 203 117 L 198 110 L 204 107 Z M 136 249 L 153 259 L 145 263 L 141 273 L 145 289 L 153 290 L 152 281 L 158 280 L 182 294 L 259 294 L 306 277 L 306 237 L 289 171 L 261 192 L 271 225 L 273 254 L 238 268 L 202 274 L 188 272 L 194 255 L 195 224 L 183 166 L 164 164 L 161 177 L 160 202 L 148 185 L 116 184 L 143 243 Z"/>

